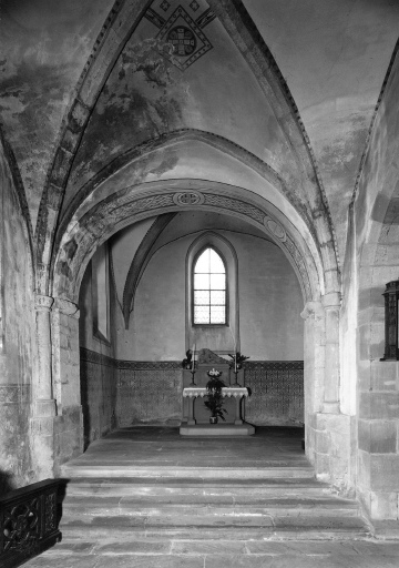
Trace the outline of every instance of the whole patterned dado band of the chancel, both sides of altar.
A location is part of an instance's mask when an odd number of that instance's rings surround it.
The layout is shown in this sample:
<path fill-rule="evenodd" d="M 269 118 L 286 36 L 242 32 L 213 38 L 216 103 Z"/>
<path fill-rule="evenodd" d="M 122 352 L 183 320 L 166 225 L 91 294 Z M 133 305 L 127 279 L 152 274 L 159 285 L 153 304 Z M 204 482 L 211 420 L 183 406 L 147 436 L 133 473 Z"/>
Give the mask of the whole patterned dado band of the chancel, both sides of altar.
<path fill-rule="evenodd" d="M 90 413 L 84 420 L 92 428 L 99 424 L 101 429 L 100 417 L 104 413 L 110 427 L 180 422 L 181 362 L 115 361 L 88 349 L 81 349 L 81 357 L 82 381 L 85 382 L 82 406 L 84 414 Z M 246 362 L 244 366 L 245 386 L 252 390 L 245 403 L 247 422 L 275 426 L 304 422 L 301 361 Z"/>

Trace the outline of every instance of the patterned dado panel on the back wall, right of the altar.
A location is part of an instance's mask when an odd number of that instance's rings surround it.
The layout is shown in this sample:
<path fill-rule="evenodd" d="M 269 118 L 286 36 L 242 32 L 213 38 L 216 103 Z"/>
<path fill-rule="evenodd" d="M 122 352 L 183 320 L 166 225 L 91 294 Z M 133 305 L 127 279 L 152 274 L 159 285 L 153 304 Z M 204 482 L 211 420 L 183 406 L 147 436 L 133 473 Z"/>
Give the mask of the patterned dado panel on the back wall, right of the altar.
<path fill-rule="evenodd" d="M 245 419 L 255 425 L 304 423 L 304 362 L 246 362 L 245 386 L 252 395 L 245 402 Z"/>

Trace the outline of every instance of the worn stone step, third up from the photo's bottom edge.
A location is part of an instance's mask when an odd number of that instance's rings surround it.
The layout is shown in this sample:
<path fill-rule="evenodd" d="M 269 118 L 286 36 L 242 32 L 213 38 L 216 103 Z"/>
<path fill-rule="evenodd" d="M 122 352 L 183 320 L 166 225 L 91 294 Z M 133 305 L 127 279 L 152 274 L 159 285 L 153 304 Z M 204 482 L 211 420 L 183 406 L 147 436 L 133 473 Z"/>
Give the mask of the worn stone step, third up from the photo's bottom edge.
<path fill-rule="evenodd" d="M 63 517 L 160 515 L 341 515 L 357 516 L 359 507 L 348 499 L 330 497 L 280 498 L 236 495 L 163 495 L 140 497 L 69 496 L 63 501 Z"/>

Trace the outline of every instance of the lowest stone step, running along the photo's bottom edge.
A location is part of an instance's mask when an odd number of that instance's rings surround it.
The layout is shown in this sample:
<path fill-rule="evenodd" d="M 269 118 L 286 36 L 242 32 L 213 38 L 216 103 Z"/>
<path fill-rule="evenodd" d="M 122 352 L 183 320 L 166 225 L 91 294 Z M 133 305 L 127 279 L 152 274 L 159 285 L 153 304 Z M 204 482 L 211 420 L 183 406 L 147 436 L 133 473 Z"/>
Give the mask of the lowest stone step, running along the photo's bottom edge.
<path fill-rule="evenodd" d="M 192 544 L 186 547 L 183 542 L 182 546 L 171 544 L 165 551 L 155 547 L 151 549 L 151 544 L 144 544 L 140 548 L 136 548 L 134 542 L 125 545 L 104 545 L 89 554 L 80 552 L 79 549 L 63 548 L 61 544 L 24 566 L 27 568 L 54 566 L 64 568 L 332 568 L 338 566 L 396 568 L 398 566 L 398 552 L 392 551 L 391 545 L 385 545 L 383 548 L 374 545 L 368 549 L 359 547 L 360 552 L 357 550 L 357 544 L 355 548 L 348 541 L 329 542 L 327 546 L 325 542 L 299 541 L 295 542 L 295 549 L 291 548 L 291 541 L 263 542 L 262 545 L 258 541 L 238 542 L 239 548 L 232 542 L 222 547 L 217 541 L 206 547 L 203 547 L 203 542 L 196 542 L 197 547 Z M 319 545 L 319 548 L 316 545 Z M 381 549 L 383 556 L 381 556 Z"/>

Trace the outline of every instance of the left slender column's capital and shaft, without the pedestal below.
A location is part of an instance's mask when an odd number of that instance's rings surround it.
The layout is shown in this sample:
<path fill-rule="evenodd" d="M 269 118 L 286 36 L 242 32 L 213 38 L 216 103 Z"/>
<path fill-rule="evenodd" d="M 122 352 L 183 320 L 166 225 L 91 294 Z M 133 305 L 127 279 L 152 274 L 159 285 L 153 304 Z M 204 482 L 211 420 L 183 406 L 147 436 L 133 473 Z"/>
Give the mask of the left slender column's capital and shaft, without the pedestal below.
<path fill-rule="evenodd" d="M 55 400 L 52 393 L 51 376 L 51 323 L 50 311 L 54 300 L 41 294 L 35 295 L 35 321 L 38 339 L 38 381 L 34 385 L 37 416 L 55 416 Z"/>

